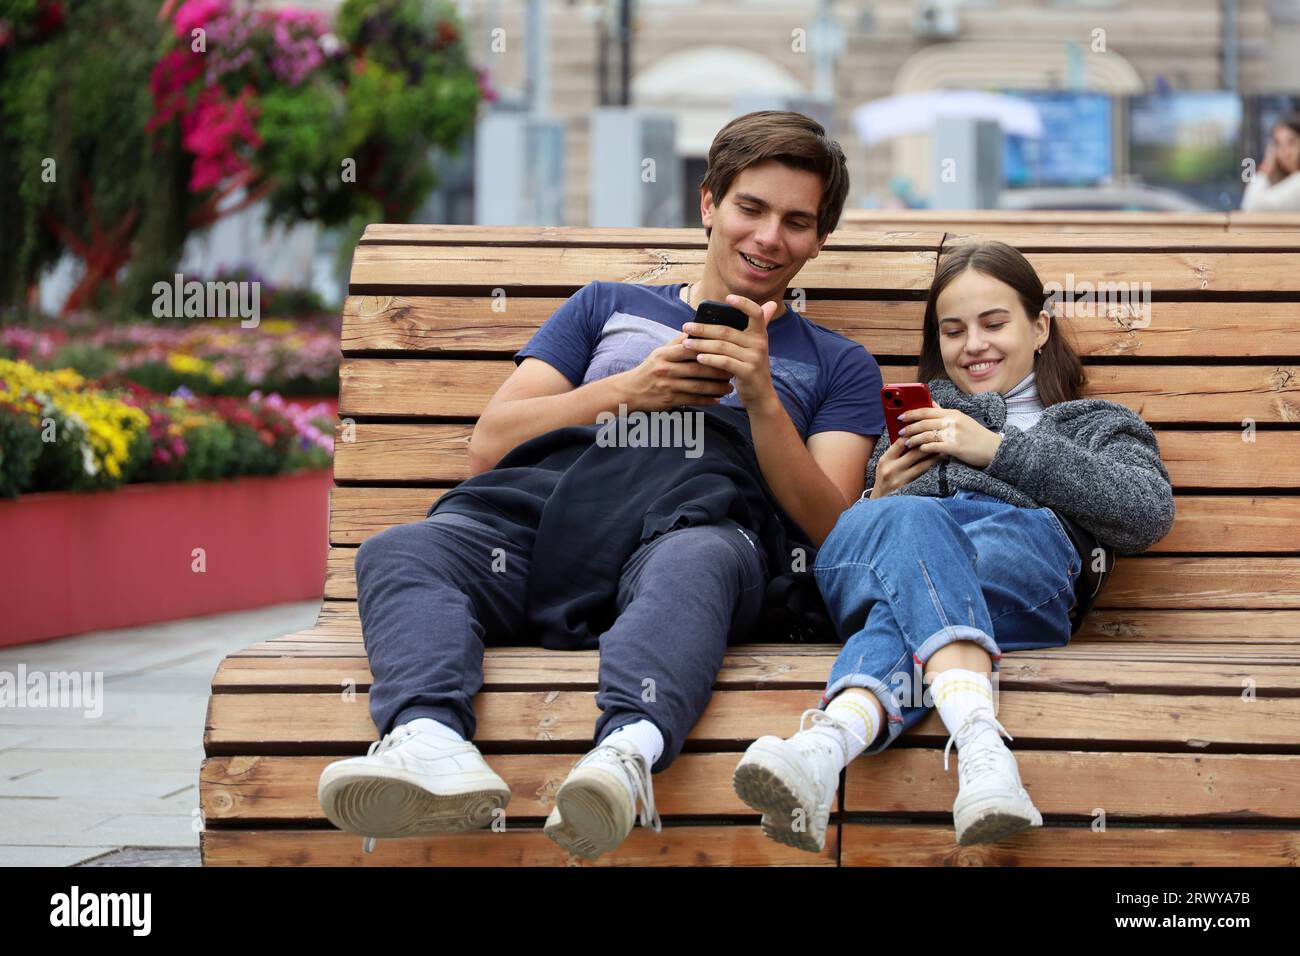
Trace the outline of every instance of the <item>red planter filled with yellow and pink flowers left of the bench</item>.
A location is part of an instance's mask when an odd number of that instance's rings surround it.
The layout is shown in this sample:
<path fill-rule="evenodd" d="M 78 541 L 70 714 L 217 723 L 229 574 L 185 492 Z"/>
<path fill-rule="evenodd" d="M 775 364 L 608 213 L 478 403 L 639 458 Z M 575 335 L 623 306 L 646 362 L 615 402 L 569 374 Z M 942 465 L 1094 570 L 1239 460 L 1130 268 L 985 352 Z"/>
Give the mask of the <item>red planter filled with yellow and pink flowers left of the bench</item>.
<path fill-rule="evenodd" d="M 332 414 L 0 359 L 0 645 L 320 597 Z"/>

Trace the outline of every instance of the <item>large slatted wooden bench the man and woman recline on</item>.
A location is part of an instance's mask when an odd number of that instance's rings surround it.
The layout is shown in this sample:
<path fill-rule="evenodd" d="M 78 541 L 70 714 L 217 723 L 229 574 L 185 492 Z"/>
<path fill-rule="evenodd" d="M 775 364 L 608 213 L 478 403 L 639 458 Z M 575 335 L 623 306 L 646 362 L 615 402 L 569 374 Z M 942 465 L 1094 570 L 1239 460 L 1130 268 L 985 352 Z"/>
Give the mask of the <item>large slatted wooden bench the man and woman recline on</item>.
<path fill-rule="evenodd" d="M 1300 858 L 1300 238 L 1223 229 L 989 238 L 1044 282 L 1150 282 L 1149 325 L 1119 310 L 1067 323 L 1088 395 L 1157 431 L 1178 494 L 1173 533 L 1122 558 L 1069 648 L 1008 654 L 1000 717 L 1046 826 L 958 847 L 956 766 L 937 714 L 845 775 L 826 851 L 766 839 L 732 770 L 814 706 L 837 645 L 732 649 L 685 752 L 655 778 L 662 834 L 636 827 L 601 864 L 1295 864 Z M 911 381 L 940 254 L 972 238 L 915 224 L 841 230 L 798 276 L 806 315 Z M 212 682 L 200 792 L 208 865 L 576 862 L 542 834 L 590 748 L 597 658 L 490 649 L 477 743 L 510 782 L 504 831 L 380 840 L 325 821 L 321 769 L 377 739 L 354 558 L 467 477 L 477 415 L 511 355 L 593 278 L 702 274 L 699 229 L 370 226 L 342 333 L 330 557 L 315 627 L 228 657 Z M 504 298 L 502 298 L 504 295 Z M 495 307 L 494 307 L 495 306 Z M 1243 421 L 1253 428 L 1243 428 Z M 1249 423 L 1248 423 L 1249 424 Z M 1248 441 L 1249 440 L 1249 441 Z M 1104 816 L 1102 816 L 1104 814 Z M 1102 826 L 1104 825 L 1104 826 Z"/>

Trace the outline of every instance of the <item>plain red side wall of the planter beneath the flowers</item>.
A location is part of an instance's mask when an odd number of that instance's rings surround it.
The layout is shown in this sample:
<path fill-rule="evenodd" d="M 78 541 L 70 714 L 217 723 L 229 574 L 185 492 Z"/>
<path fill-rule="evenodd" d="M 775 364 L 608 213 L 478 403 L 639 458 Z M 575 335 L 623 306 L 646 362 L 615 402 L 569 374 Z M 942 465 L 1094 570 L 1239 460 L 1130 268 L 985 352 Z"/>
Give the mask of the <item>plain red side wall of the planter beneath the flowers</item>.
<path fill-rule="evenodd" d="M 0 501 L 0 646 L 321 597 L 332 484 L 322 468 Z"/>

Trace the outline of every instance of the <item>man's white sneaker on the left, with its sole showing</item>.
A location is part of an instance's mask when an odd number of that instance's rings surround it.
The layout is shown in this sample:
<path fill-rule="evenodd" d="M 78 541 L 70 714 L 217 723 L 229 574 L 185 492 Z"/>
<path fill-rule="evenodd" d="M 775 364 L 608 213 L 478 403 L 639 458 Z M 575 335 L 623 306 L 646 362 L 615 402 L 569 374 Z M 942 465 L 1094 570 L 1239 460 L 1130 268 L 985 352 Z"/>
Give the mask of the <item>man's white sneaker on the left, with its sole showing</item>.
<path fill-rule="evenodd" d="M 365 757 L 338 760 L 316 788 L 329 821 L 367 838 L 473 830 L 510 803 L 510 786 L 468 740 L 398 724 Z"/>

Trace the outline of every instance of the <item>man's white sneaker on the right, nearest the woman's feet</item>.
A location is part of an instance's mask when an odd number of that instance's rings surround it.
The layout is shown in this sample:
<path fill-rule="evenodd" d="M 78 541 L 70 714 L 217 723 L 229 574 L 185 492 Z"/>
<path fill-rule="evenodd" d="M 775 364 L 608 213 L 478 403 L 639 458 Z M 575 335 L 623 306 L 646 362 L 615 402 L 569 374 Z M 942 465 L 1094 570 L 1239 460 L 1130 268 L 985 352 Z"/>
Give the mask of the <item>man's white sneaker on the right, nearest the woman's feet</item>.
<path fill-rule="evenodd" d="M 595 860 L 618 849 L 632 832 L 638 801 L 641 826 L 659 832 L 663 821 L 650 777 L 650 765 L 634 744 L 623 735 L 607 737 L 564 778 L 546 818 L 546 835 L 569 853 Z M 632 780 L 636 796 L 628 793 L 625 780 Z"/>

